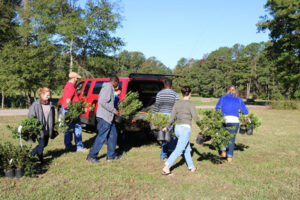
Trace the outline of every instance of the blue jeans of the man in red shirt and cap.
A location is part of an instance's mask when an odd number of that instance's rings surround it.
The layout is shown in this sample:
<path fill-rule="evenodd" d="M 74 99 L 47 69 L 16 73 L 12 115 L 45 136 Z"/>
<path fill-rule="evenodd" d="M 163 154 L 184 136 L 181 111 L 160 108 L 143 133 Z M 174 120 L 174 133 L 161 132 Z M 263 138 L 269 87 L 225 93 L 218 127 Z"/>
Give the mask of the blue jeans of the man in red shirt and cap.
<path fill-rule="evenodd" d="M 64 109 L 62 107 L 62 114 L 63 116 L 65 116 L 65 114 L 68 112 L 68 110 Z M 80 118 L 78 117 L 78 119 L 69 124 L 68 130 L 65 133 L 65 147 L 66 150 L 69 150 L 71 148 L 71 142 L 73 139 L 73 133 L 74 133 L 74 138 L 75 138 L 75 145 L 76 145 L 76 149 L 77 151 L 84 148 L 83 143 L 82 143 L 82 137 L 81 137 L 81 122 L 80 122 Z"/>

